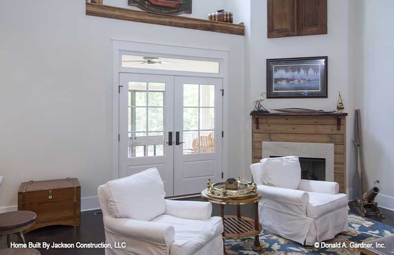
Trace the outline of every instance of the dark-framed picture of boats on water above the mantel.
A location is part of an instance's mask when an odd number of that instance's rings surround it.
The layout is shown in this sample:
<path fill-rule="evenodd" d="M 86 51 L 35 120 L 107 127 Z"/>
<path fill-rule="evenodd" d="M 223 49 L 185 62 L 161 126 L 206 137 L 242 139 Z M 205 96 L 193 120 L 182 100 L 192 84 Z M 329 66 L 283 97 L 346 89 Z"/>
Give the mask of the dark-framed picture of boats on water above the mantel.
<path fill-rule="evenodd" d="M 267 98 L 327 97 L 327 59 L 267 59 Z"/>

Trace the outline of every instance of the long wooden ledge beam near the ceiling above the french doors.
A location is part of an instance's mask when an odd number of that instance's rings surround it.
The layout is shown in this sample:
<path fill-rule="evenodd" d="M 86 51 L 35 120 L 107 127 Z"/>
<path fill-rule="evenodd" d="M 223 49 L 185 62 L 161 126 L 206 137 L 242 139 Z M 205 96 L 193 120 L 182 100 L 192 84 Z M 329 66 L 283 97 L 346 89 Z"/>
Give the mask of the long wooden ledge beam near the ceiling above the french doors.
<path fill-rule="evenodd" d="M 168 25 L 170 27 L 177 28 L 212 31 L 224 34 L 245 35 L 245 25 L 243 23 L 231 24 L 198 18 L 160 15 L 108 5 L 86 3 L 86 15 Z"/>

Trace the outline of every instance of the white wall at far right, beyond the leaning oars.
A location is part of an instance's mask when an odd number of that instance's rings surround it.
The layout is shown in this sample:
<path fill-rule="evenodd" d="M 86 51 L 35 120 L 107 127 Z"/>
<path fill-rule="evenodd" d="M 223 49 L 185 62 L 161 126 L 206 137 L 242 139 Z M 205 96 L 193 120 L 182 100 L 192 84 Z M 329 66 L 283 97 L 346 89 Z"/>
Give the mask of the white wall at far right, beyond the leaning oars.
<path fill-rule="evenodd" d="M 363 83 L 360 109 L 368 188 L 380 180 L 380 206 L 394 210 L 394 35 L 390 0 L 362 1 Z"/>

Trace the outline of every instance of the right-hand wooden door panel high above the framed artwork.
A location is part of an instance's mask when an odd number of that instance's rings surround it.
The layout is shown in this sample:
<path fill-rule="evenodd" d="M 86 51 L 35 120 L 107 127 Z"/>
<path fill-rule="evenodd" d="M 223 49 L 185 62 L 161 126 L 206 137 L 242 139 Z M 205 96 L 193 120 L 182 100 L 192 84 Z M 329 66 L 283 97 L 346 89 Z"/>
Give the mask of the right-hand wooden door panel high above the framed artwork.
<path fill-rule="evenodd" d="M 297 0 L 297 35 L 327 34 L 327 0 Z"/>

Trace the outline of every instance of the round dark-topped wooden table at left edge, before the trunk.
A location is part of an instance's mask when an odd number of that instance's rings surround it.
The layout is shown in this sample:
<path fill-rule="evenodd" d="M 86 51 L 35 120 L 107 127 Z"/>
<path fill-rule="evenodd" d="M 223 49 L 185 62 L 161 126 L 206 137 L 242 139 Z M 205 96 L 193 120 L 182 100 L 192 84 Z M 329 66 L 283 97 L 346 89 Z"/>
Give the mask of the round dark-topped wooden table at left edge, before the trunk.
<path fill-rule="evenodd" d="M 10 235 L 15 234 L 26 243 L 23 232 L 36 223 L 36 218 L 36 213 L 31 211 L 0 214 L 0 239 L 7 235 L 7 245 L 10 247 Z"/>

